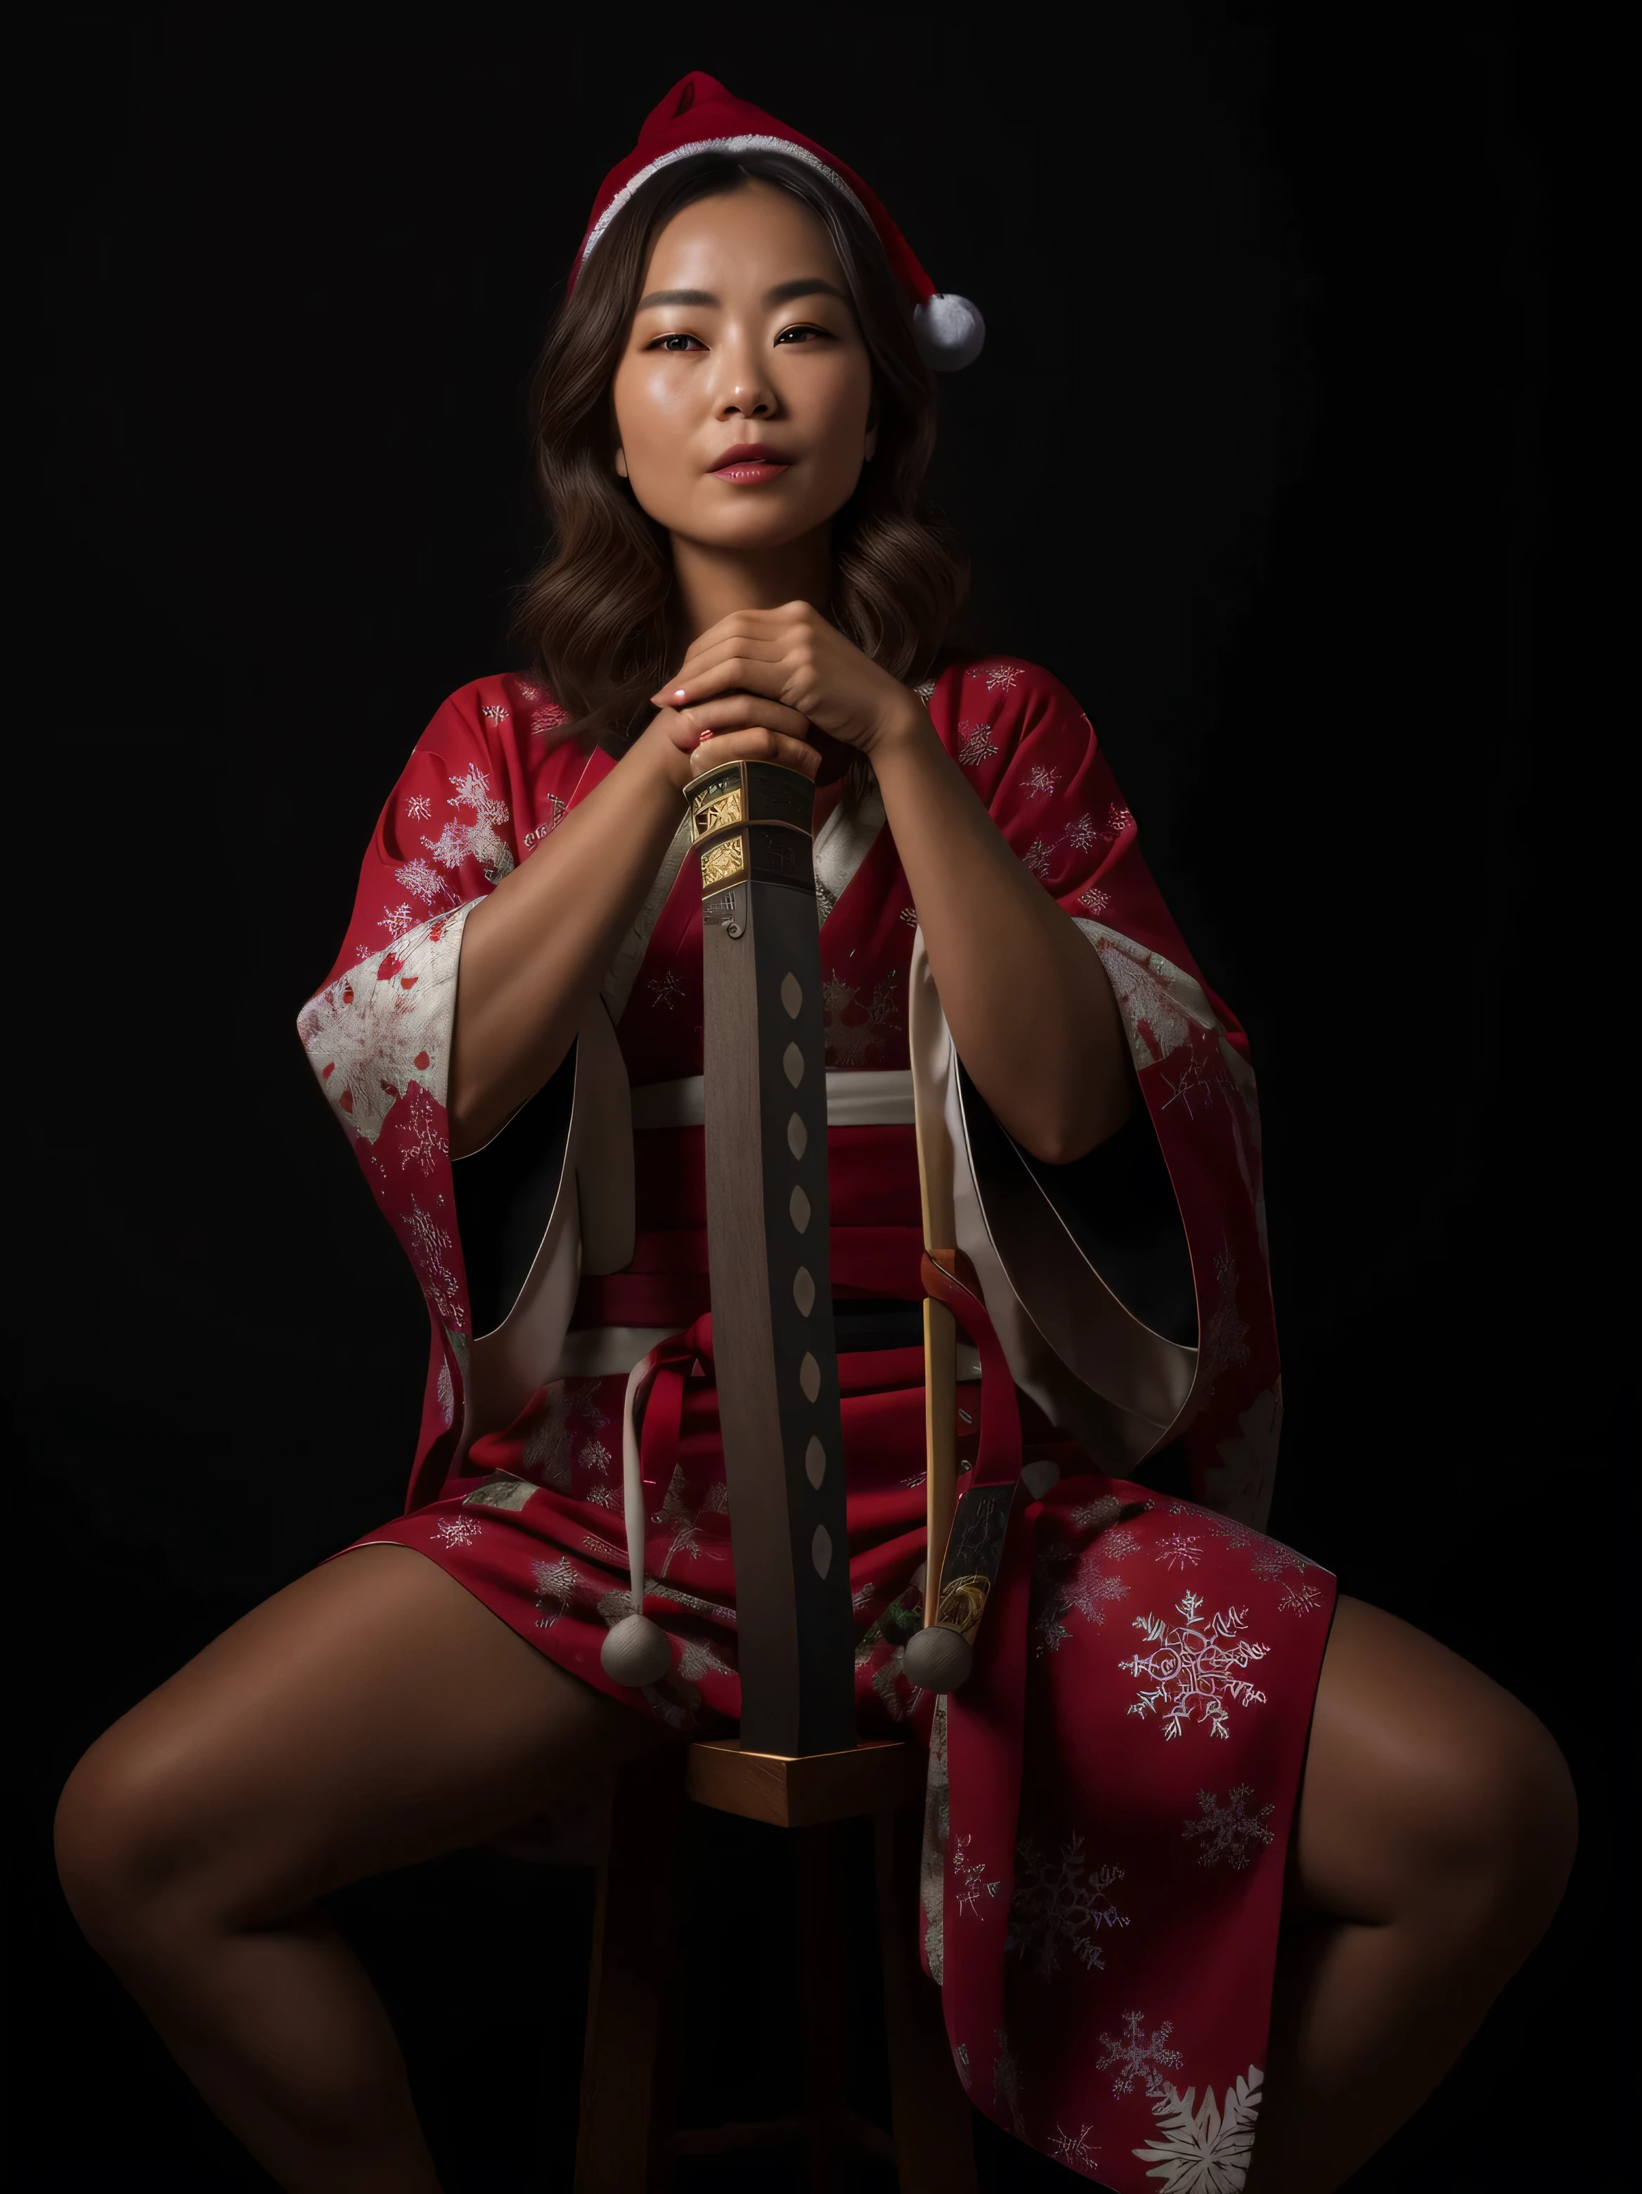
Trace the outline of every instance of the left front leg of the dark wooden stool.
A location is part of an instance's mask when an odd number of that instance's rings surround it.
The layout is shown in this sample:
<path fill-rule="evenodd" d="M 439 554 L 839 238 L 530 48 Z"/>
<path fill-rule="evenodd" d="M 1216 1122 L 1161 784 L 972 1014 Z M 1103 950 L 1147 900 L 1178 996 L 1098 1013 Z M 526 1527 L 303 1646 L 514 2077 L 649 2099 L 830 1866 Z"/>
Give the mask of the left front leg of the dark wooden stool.
<path fill-rule="evenodd" d="M 673 2095 L 658 2073 L 673 2065 L 662 2025 L 682 1810 L 682 1755 L 642 1757 L 616 1775 L 594 1904 L 574 2194 L 653 2194 L 671 2179 Z"/>

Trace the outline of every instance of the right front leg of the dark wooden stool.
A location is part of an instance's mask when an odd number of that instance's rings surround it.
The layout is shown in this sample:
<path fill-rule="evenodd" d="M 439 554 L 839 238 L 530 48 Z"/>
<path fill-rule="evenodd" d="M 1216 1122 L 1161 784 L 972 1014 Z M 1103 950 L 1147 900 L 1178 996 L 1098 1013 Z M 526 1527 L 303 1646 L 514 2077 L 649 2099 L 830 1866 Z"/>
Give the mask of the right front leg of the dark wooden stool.
<path fill-rule="evenodd" d="M 923 1812 L 914 1806 L 881 1812 L 873 1832 L 883 2029 L 890 2043 L 890 2111 L 901 2194 L 976 2194 L 969 2097 L 951 2062 L 940 1990 L 919 1966 Z"/>

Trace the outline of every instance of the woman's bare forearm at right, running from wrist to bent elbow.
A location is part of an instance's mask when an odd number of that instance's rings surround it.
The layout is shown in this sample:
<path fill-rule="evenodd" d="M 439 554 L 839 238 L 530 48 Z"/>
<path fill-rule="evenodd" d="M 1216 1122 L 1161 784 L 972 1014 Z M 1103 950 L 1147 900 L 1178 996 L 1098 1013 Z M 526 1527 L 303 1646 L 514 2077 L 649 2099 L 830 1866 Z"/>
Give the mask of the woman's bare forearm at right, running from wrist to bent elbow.
<path fill-rule="evenodd" d="M 1035 1158 L 1083 1156 L 1133 1108 L 1098 957 L 1019 864 L 921 709 L 873 744 L 873 768 L 958 1055 Z"/>

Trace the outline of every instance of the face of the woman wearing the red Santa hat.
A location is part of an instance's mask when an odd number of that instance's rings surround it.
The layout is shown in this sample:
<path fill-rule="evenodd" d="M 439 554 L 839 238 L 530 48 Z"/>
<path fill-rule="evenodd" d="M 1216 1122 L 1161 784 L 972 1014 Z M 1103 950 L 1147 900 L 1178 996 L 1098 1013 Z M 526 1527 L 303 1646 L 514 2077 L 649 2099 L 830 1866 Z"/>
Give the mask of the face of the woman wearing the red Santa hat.
<path fill-rule="evenodd" d="M 866 344 L 816 215 L 769 182 L 673 215 L 612 404 L 616 470 L 669 533 L 756 551 L 824 527 L 875 432 Z"/>

